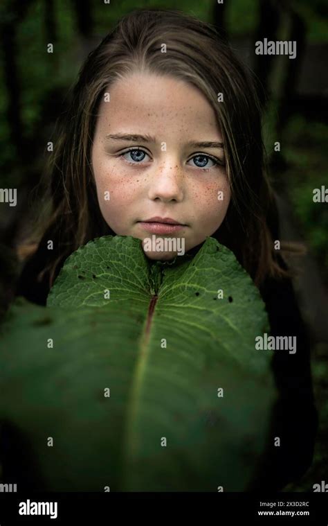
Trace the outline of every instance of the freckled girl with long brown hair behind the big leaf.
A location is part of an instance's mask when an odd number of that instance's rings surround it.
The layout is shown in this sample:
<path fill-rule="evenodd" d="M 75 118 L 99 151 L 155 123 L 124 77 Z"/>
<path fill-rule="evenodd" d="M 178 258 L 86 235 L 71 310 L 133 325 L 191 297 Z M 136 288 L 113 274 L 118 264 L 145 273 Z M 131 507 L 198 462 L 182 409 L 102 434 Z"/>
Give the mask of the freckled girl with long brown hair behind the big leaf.
<path fill-rule="evenodd" d="M 149 233 L 170 232 L 183 237 L 185 252 L 217 238 L 259 288 L 271 335 L 297 337 L 295 355 L 273 358 L 282 447 L 272 447 L 255 487 L 297 480 L 311 464 L 316 431 L 309 344 L 291 275 L 274 249 L 279 225 L 255 83 L 228 42 L 181 12 L 122 18 L 80 71 L 49 168 L 51 209 L 33 231 L 36 250 L 17 295 L 46 304 L 65 259 L 99 236 L 144 243 Z M 167 218 L 180 226 L 164 227 Z"/>

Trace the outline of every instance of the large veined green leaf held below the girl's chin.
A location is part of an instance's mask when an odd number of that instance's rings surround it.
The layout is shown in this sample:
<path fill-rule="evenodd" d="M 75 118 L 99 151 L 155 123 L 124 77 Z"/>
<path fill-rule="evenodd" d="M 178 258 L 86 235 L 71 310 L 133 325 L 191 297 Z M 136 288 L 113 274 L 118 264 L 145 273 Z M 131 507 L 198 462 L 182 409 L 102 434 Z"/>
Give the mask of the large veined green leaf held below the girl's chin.
<path fill-rule="evenodd" d="M 24 437 L 39 489 L 245 491 L 277 396 L 265 331 L 259 291 L 215 239 L 162 263 L 131 236 L 98 238 L 46 308 L 19 299 L 3 323 L 3 433 Z"/>

